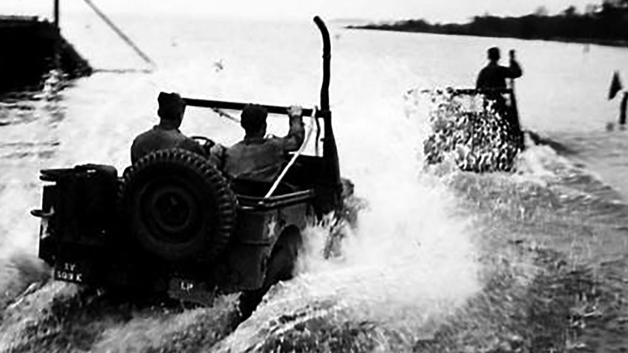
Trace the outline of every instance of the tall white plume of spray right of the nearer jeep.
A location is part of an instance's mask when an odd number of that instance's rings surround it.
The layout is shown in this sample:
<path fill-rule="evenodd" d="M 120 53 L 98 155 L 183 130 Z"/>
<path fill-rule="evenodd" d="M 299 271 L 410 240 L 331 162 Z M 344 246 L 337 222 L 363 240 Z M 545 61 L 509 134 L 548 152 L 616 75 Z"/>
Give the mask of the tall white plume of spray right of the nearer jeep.
<path fill-rule="evenodd" d="M 364 109 L 373 114 L 378 103 Z M 309 227 L 297 278 L 271 290 L 219 351 L 411 350 L 480 290 L 467 220 L 453 215 L 445 187 L 420 173 L 425 118 L 415 108 L 378 126 L 386 129 L 380 134 L 352 126 L 364 138 L 349 153 L 371 156 L 376 169 L 353 178 L 368 207 L 345 234 L 342 256 L 323 259 L 327 223 Z M 396 134 L 413 138 L 387 141 L 386 149 L 372 140 Z"/>

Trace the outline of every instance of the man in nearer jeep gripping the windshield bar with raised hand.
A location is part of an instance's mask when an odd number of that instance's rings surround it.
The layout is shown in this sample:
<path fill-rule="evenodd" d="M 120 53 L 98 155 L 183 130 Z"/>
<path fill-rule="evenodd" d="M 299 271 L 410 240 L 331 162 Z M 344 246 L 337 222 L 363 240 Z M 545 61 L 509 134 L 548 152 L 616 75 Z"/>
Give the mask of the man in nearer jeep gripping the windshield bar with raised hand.
<path fill-rule="evenodd" d="M 233 178 L 245 178 L 258 182 L 273 182 L 286 163 L 286 152 L 296 151 L 305 138 L 303 109 L 288 108 L 290 131 L 283 138 L 265 138 L 268 111 L 263 106 L 248 104 L 242 110 L 241 126 L 245 136 L 242 141 L 227 148 L 223 170 Z"/>

